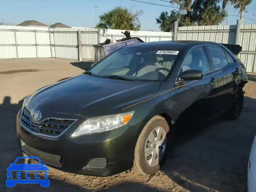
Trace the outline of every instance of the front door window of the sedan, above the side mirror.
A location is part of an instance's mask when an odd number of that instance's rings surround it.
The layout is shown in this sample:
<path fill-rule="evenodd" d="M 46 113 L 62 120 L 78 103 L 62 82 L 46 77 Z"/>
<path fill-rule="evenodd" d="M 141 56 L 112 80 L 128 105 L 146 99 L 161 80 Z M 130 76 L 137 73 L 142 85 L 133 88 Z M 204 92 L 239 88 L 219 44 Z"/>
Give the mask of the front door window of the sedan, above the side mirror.
<path fill-rule="evenodd" d="M 203 47 L 198 47 L 189 52 L 182 65 L 182 72 L 186 70 L 200 70 L 202 73 L 210 70 L 210 66 Z"/>

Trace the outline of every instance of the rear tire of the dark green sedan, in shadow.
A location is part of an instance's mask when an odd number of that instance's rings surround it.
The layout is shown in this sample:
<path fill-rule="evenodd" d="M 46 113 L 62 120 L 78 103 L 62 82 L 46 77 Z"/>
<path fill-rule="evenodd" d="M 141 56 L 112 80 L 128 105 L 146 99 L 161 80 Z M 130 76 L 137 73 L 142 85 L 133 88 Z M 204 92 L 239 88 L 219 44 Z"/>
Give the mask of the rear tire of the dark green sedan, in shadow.
<path fill-rule="evenodd" d="M 244 92 L 242 88 L 239 88 L 236 92 L 231 109 L 226 112 L 226 117 L 230 120 L 237 119 L 243 110 L 243 106 L 244 106 Z"/>

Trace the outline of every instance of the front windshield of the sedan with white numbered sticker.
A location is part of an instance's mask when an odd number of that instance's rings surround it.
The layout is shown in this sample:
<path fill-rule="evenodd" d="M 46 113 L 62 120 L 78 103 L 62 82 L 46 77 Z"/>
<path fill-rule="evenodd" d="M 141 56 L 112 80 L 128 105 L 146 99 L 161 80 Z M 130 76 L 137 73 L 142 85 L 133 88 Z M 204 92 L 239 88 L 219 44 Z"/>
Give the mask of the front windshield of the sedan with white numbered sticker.
<path fill-rule="evenodd" d="M 172 69 L 178 52 L 171 48 L 122 48 L 100 61 L 89 74 L 124 80 L 162 81 Z"/>

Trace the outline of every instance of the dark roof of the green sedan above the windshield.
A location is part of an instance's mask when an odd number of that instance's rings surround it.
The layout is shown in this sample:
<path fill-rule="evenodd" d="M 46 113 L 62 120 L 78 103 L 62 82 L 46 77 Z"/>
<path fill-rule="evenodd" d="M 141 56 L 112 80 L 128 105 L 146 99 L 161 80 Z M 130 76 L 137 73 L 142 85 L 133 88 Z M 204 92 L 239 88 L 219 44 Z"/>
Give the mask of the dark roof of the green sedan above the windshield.
<path fill-rule="evenodd" d="M 157 41 L 157 42 L 145 42 L 145 43 L 138 43 L 126 46 L 128 47 L 138 47 L 138 48 L 156 48 L 161 47 L 163 48 L 176 48 L 178 50 L 183 48 L 190 48 L 197 45 L 204 45 L 204 44 L 213 44 L 213 45 L 220 45 L 216 42 L 208 42 L 208 41 Z"/>

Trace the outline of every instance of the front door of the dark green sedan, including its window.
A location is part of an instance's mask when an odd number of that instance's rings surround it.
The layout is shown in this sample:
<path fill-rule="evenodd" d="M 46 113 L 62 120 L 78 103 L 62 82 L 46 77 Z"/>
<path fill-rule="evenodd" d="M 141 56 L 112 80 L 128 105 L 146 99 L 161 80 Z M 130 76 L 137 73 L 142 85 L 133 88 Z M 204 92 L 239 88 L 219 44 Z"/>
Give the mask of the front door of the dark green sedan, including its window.
<path fill-rule="evenodd" d="M 178 79 L 175 83 L 177 92 L 176 111 L 186 119 L 206 119 L 216 113 L 214 98 L 212 97 L 213 86 L 210 65 L 203 46 L 193 48 L 182 64 L 180 75 L 186 70 L 200 70 L 201 80 L 184 81 Z"/>

